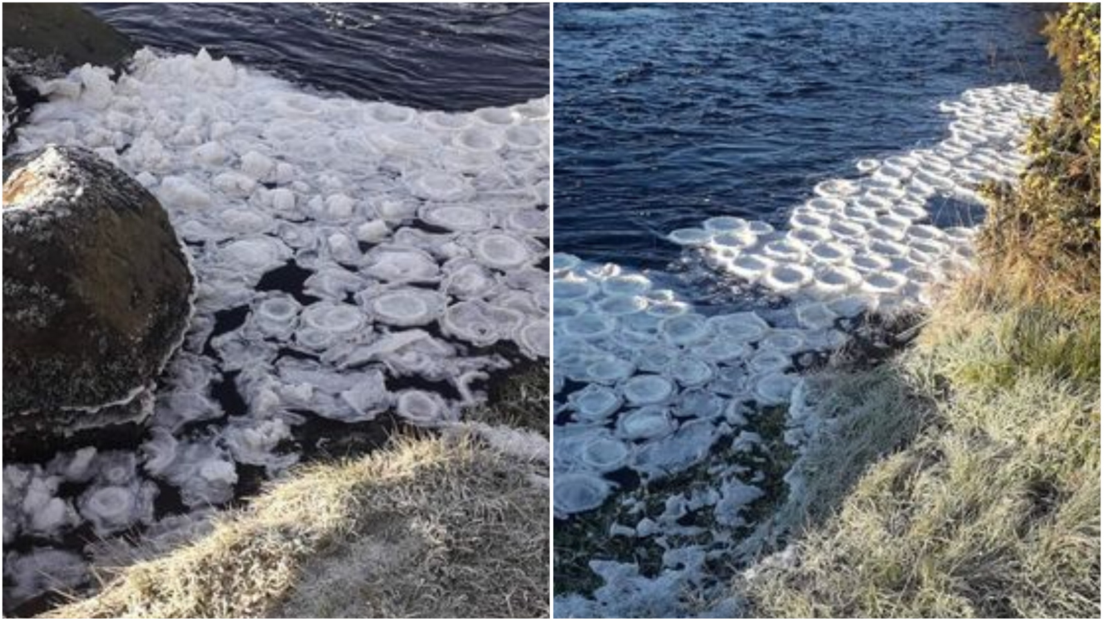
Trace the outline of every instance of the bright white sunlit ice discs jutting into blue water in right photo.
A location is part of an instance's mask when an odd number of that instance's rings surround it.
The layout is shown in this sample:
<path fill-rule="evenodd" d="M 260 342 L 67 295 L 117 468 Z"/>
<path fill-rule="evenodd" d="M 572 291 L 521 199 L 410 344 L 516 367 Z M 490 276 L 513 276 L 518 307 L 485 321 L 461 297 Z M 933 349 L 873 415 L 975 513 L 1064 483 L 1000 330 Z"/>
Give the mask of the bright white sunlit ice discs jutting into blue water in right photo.
<path fill-rule="evenodd" d="M 794 298 L 851 297 L 868 310 L 926 306 L 932 287 L 969 270 L 974 256 L 973 223 L 937 226 L 946 219 L 932 212 L 947 200 L 979 202 L 984 182 L 1015 180 L 1028 161 L 1017 150 L 1025 119 L 1050 105 L 1051 96 L 1023 85 L 967 91 L 940 106 L 955 117 L 947 138 L 859 160 L 854 179 L 821 181 L 784 231 L 718 217 L 668 238 L 702 249 L 722 273 Z"/>

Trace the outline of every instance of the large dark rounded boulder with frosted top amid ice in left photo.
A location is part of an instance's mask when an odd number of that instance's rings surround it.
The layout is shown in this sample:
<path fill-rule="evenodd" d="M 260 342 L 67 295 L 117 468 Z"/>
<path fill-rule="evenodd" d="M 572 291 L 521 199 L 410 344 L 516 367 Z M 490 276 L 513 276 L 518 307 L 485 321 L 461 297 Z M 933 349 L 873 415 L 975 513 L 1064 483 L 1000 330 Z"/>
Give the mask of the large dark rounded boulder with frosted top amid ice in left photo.
<path fill-rule="evenodd" d="M 130 422 L 180 345 L 193 276 L 168 214 L 91 151 L 3 162 L 3 437 Z"/>

